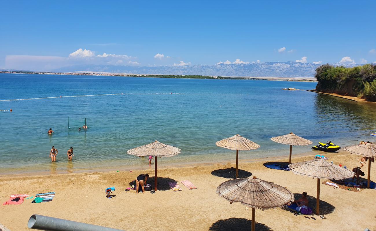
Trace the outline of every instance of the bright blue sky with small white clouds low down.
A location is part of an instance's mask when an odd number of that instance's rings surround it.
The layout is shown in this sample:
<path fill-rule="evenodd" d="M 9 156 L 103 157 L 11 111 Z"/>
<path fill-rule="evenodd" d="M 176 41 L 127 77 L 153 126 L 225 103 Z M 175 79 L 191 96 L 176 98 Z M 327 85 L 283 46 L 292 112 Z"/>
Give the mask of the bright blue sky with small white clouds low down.
<path fill-rule="evenodd" d="M 0 68 L 376 62 L 376 1 L 2 1 Z"/>

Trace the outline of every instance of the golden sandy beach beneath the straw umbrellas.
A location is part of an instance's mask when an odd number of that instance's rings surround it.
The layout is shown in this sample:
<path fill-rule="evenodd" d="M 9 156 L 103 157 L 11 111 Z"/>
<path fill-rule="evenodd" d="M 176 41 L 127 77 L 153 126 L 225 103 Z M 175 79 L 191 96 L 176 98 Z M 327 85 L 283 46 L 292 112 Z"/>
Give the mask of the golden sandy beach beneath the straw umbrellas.
<path fill-rule="evenodd" d="M 234 158 L 235 158 L 235 152 Z M 229 154 L 230 155 L 230 154 Z M 359 157 L 348 152 L 325 154 L 329 161 L 343 164 L 352 169 L 359 165 Z M 312 159 L 314 156 L 295 157 L 293 162 Z M 280 161 L 288 161 L 283 159 Z M 154 160 L 153 160 L 154 162 Z M 265 160 L 241 162 L 240 169 L 252 172 L 253 176 L 287 187 L 293 193 L 308 192 L 316 197 L 317 180 L 294 175 L 289 171 L 268 169 L 263 166 Z M 39 175 L 39 176 L 1 176 L 0 198 L 2 203 L 13 193 L 36 193 L 56 191 L 52 202 L 31 204 L 27 199 L 21 205 L 1 205 L 0 223 L 12 231 L 30 230 L 27 220 L 32 214 L 58 217 L 62 219 L 87 222 L 129 231 L 136 230 L 250 230 L 252 210 L 236 202 L 230 204 L 215 194 L 215 189 L 224 177 L 212 175 L 217 169 L 235 166 L 210 165 L 183 168 L 158 169 L 158 181 L 163 185 L 163 177 L 176 181 L 190 180 L 198 189 L 188 190 L 180 183 L 182 191 L 157 191 L 136 194 L 125 192 L 129 183 L 141 173 L 154 171 L 130 172 L 94 172 L 77 174 Z M 153 169 L 153 168 L 152 168 Z M 367 167 L 363 168 L 367 176 Z M 372 163 L 371 180 L 375 181 L 376 166 Z M 105 197 L 105 189 L 114 186 L 116 197 Z M 329 214 L 327 219 L 314 215 L 313 219 L 294 216 L 289 211 L 277 208 L 256 210 L 256 230 L 363 230 L 365 227 L 376 229 L 376 190 L 364 189 L 350 192 L 334 189 L 321 184 L 322 211 Z M 315 205 L 315 199 L 310 201 Z M 334 211 L 333 206 L 335 207 Z M 311 216 L 310 216 L 311 217 Z M 210 228 L 212 226 L 212 228 Z M 265 228 L 266 227 L 266 228 Z M 268 229 L 268 227 L 270 229 Z M 264 229 L 262 229 L 264 228 Z"/>

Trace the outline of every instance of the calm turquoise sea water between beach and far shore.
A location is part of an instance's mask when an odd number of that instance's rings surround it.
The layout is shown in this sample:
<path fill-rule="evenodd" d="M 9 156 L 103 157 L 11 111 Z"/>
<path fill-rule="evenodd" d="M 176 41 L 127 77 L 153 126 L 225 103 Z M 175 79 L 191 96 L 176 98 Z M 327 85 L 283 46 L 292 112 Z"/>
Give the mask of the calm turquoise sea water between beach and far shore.
<path fill-rule="evenodd" d="M 86 75 L 0 74 L 0 173 L 131 169 L 147 158 L 126 154 L 159 140 L 182 153 L 163 165 L 235 161 L 235 151 L 215 142 L 234 134 L 261 148 L 240 151 L 241 159 L 287 156 L 273 136 L 291 131 L 312 142 L 344 147 L 373 140 L 376 106 L 308 91 L 316 83 L 262 80 L 163 79 Z M 123 93 L 123 94 L 121 94 Z M 172 93 L 172 94 L 171 94 Z M 36 100 L 1 101 L 93 94 Z M 70 129 L 68 129 L 68 116 Z M 88 129 L 78 131 L 86 118 Z M 55 133 L 47 135 L 52 128 Z M 50 163 L 49 150 L 59 150 Z M 74 160 L 67 150 L 74 147 Z M 310 151 L 294 147 L 294 153 Z"/>

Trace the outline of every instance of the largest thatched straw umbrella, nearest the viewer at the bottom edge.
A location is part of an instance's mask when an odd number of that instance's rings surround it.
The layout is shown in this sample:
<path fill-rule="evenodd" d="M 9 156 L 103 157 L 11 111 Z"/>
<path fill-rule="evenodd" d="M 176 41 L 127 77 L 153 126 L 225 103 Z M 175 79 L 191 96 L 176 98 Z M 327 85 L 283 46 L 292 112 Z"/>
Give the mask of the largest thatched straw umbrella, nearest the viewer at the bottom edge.
<path fill-rule="evenodd" d="M 257 177 L 225 181 L 217 187 L 216 193 L 230 201 L 230 204 L 240 202 L 252 208 L 252 231 L 255 230 L 256 208 L 265 210 L 284 207 L 294 200 L 294 194 L 288 189 Z"/>

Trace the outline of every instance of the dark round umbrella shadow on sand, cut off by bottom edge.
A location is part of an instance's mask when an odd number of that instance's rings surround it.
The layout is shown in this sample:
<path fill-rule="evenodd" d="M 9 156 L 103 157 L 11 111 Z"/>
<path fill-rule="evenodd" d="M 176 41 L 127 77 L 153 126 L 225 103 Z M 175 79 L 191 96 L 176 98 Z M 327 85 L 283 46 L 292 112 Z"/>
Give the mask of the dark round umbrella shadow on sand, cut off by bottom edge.
<path fill-rule="evenodd" d="M 225 220 L 218 220 L 214 222 L 209 230 L 210 231 L 250 231 L 252 220 L 245 218 L 229 218 Z M 255 222 L 255 230 L 257 231 L 272 231 L 269 226 L 262 223 Z"/>

